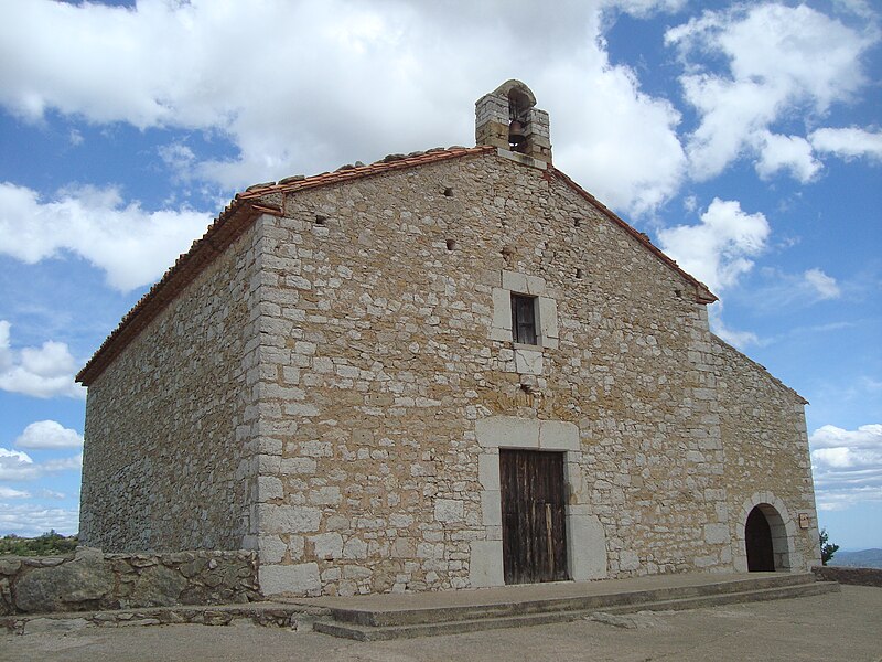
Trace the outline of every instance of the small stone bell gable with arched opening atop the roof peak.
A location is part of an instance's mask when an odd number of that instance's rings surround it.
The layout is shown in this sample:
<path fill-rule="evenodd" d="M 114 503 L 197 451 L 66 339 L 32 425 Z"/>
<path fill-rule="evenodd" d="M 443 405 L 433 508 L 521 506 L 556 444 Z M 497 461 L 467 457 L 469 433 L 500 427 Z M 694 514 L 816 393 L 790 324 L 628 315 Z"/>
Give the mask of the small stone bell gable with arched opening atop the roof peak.
<path fill-rule="evenodd" d="M 506 81 L 475 103 L 475 142 L 551 162 L 548 113 L 520 81 Z"/>

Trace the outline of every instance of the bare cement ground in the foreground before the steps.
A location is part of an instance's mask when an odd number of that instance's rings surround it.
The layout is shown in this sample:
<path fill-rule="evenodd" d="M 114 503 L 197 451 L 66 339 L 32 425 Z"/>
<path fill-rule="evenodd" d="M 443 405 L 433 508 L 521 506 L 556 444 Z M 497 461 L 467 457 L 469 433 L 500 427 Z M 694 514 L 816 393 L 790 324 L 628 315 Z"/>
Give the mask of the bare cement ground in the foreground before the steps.
<path fill-rule="evenodd" d="M 3 662 L 882 662 L 882 589 L 515 630 L 361 643 L 251 624 L 0 636 Z"/>

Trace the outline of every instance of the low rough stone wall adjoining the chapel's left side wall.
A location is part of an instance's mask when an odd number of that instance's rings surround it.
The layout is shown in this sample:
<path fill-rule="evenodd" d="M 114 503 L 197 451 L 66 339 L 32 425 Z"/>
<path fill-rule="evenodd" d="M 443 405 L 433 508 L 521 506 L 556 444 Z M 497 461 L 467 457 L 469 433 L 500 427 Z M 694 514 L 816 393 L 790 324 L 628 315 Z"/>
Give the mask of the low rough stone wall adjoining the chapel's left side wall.
<path fill-rule="evenodd" d="M 0 615 L 229 605 L 259 599 L 252 552 L 0 558 Z"/>

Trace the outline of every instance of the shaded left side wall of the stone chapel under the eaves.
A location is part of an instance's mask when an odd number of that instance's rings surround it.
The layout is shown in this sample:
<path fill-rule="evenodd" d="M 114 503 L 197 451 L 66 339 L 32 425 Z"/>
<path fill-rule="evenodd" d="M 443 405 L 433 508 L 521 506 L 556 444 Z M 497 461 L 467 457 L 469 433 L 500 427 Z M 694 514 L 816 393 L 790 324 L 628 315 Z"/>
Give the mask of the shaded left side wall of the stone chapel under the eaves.
<path fill-rule="evenodd" d="M 89 386 L 84 544 L 106 552 L 254 546 L 252 242 L 247 231 Z"/>

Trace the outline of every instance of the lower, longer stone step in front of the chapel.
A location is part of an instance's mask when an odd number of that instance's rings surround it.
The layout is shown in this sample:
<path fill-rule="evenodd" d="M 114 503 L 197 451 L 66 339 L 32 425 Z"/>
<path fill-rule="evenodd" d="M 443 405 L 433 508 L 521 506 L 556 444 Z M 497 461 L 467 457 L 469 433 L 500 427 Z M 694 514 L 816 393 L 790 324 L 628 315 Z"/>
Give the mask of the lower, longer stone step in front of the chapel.
<path fill-rule="evenodd" d="M 743 583 L 725 583 L 725 584 L 743 584 Z M 718 586 L 718 585 L 713 585 Z M 706 586 L 707 588 L 707 586 Z M 437 622 L 417 622 L 408 624 L 391 624 L 391 626 L 369 626 L 356 622 L 340 622 L 340 621 L 324 621 L 319 620 L 313 624 L 316 632 L 323 632 L 333 637 L 341 637 L 346 639 L 355 639 L 358 641 L 381 641 L 390 639 L 410 639 L 415 637 L 434 637 L 440 634 L 460 634 L 465 632 L 476 632 L 481 630 L 494 630 L 502 628 L 519 628 L 526 626 L 541 626 L 556 622 L 568 622 L 580 619 L 590 618 L 592 613 L 634 613 L 637 611 L 668 611 L 668 610 L 682 610 L 682 609 L 698 609 L 703 607 L 716 607 L 720 605 L 731 605 L 738 602 L 752 602 L 760 600 L 778 600 L 786 598 L 798 598 L 806 596 L 822 595 L 828 592 L 837 592 L 840 590 L 839 584 L 835 581 L 813 581 L 813 583 L 793 583 L 781 581 L 778 586 L 765 588 L 751 588 L 749 590 L 720 590 L 707 591 L 701 595 L 693 595 L 688 597 L 671 597 L 669 590 L 668 596 L 664 599 L 655 600 L 632 600 L 620 601 L 611 599 L 607 604 L 594 602 L 589 608 L 567 609 L 561 608 L 563 605 L 555 605 L 558 609 L 550 609 L 547 611 L 530 611 L 523 612 L 520 607 L 523 604 L 510 605 L 514 611 L 505 615 L 495 615 L 492 610 L 483 615 L 475 615 L 473 618 L 462 620 L 440 620 Z M 658 592 L 658 591 L 637 591 Z M 665 592 L 665 591 L 660 591 Z M 599 597 L 599 596 L 592 596 Z M 606 596 L 614 598 L 614 596 Z M 530 606 L 533 608 L 533 606 Z M 404 619 L 407 620 L 407 619 Z"/>

